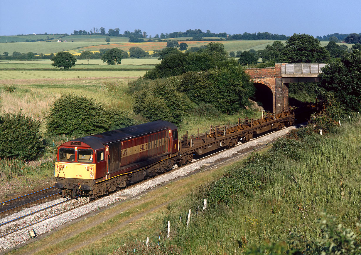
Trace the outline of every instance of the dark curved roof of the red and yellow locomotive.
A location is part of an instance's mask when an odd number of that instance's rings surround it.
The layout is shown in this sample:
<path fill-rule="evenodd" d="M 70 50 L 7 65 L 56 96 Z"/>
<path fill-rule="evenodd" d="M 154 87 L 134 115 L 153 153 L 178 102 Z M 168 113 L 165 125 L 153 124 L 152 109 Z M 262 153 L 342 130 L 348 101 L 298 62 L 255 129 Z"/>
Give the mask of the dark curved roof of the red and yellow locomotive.
<path fill-rule="evenodd" d="M 89 146 L 91 146 L 92 149 L 96 150 L 96 149 L 104 148 L 105 144 L 112 143 L 115 141 L 126 140 L 132 137 L 146 135 L 148 133 L 153 133 L 164 129 L 174 130 L 176 128 L 177 126 L 175 126 L 171 122 L 165 120 L 157 120 L 153 122 L 139 124 L 136 126 L 119 128 L 96 135 L 79 137 L 74 139 L 73 141 L 86 143 Z"/>

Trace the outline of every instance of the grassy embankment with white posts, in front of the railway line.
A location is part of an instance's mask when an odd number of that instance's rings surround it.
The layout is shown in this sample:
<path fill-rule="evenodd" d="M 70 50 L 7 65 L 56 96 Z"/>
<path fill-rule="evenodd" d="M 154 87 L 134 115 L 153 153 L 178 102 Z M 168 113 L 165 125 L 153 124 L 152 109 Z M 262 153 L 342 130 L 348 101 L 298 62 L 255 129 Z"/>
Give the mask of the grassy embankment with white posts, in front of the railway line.
<path fill-rule="evenodd" d="M 323 210 L 355 230 L 360 241 L 355 227 L 360 219 L 360 120 L 344 123 L 337 135 L 298 135 L 245 163 L 168 184 L 10 254 L 47 254 L 65 247 L 71 254 L 242 254 L 267 241 L 284 242 L 291 233 L 316 242 L 322 233 L 314 220 Z M 208 210 L 197 213 L 204 198 Z"/>

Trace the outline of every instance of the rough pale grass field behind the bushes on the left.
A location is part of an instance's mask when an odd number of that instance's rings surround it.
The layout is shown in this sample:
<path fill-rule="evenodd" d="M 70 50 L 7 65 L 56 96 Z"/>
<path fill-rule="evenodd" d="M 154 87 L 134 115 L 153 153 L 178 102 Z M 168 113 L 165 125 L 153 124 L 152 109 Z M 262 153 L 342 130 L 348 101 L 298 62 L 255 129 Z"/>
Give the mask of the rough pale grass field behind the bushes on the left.
<path fill-rule="evenodd" d="M 114 71 L 109 71 L 109 73 L 114 73 Z M 22 109 L 23 114 L 26 116 L 32 116 L 36 120 L 43 120 L 50 106 L 62 93 L 86 95 L 88 98 L 94 98 L 97 102 L 103 103 L 106 107 L 114 106 L 122 110 L 130 110 L 133 99 L 131 95 L 125 93 L 125 88 L 128 81 L 133 78 L 94 77 L 33 80 L 27 78 L 13 81 L 2 80 L 0 81 L 0 114 L 5 112 L 17 113 Z M 108 84 L 117 86 L 119 94 L 110 93 Z M 6 85 L 14 86 L 15 91 L 12 93 L 6 92 L 3 89 Z M 45 132 L 45 122 L 41 124 L 41 131 Z"/>

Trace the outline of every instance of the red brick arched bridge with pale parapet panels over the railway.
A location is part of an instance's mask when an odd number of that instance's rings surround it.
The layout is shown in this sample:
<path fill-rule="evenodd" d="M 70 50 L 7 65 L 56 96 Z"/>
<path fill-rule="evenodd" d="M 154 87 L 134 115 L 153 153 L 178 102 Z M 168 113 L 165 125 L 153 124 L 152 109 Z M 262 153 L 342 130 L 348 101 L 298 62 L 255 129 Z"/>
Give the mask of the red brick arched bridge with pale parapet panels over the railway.
<path fill-rule="evenodd" d="M 325 65 L 275 64 L 275 67 L 249 68 L 245 72 L 257 89 L 256 98 L 266 102 L 265 110 L 279 113 L 288 109 L 288 83 L 318 82 L 318 74 Z"/>

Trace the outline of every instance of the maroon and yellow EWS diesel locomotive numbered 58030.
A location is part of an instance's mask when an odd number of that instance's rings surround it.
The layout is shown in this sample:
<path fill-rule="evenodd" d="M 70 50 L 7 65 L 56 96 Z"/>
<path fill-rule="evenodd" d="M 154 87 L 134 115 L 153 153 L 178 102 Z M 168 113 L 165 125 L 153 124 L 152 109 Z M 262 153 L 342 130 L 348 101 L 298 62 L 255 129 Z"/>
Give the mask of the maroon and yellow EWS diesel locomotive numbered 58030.
<path fill-rule="evenodd" d="M 80 137 L 58 147 L 55 187 L 96 198 L 169 171 L 177 155 L 177 126 L 162 120 Z"/>

